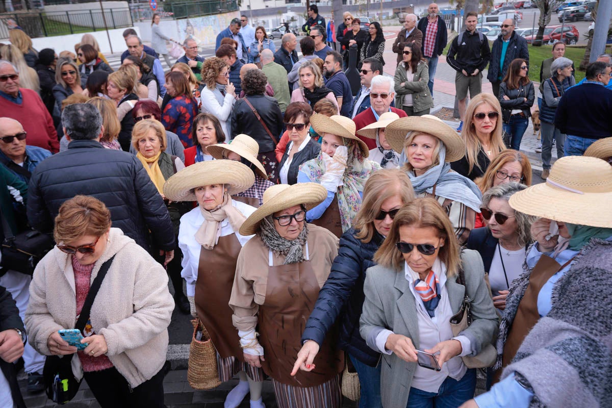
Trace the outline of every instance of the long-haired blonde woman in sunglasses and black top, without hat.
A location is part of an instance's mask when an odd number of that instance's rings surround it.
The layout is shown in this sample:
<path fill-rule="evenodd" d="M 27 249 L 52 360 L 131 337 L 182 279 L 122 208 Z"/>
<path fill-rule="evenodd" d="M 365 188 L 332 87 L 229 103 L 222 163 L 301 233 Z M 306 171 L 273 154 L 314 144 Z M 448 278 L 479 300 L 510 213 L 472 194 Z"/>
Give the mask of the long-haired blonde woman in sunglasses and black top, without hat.
<path fill-rule="evenodd" d="M 451 168 L 474 180 L 482 177 L 491 160 L 504 149 L 501 106 L 493 94 L 478 94 L 469 101 L 461 138 L 465 155 L 451 163 Z"/>

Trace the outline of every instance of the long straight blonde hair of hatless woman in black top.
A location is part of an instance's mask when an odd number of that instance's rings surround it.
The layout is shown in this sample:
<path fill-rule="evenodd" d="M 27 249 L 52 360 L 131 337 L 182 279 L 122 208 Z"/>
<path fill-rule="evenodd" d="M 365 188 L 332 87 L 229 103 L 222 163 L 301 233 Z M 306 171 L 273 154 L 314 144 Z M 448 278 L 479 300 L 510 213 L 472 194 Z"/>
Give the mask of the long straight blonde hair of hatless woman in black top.
<path fill-rule="evenodd" d="M 483 103 L 488 103 L 493 106 L 493 110 L 498 113 L 497 123 L 491 132 L 491 150 L 493 150 L 493 154 L 497 156 L 502 150 L 506 149 L 504 139 L 502 138 L 501 105 L 499 105 L 498 99 L 493 94 L 483 93 L 476 95 L 469 101 L 468 108 L 465 112 L 465 124 L 463 124 L 463 130 L 461 131 L 461 138 L 463 138 L 463 142 L 466 146 L 465 158 L 468 160 L 468 172 L 472 172 L 474 166 L 481 171 L 485 171 L 478 163 L 478 153 L 480 149 L 482 149 L 482 145 L 480 144 L 480 140 L 476 135 L 476 128 L 474 127 L 474 111 Z"/>

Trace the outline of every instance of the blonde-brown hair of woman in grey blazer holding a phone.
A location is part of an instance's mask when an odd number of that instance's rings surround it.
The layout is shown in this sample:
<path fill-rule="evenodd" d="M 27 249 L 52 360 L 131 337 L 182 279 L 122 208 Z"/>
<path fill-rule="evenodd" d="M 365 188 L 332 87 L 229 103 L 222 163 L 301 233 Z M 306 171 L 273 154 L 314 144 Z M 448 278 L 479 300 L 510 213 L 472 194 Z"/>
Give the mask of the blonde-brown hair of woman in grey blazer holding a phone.
<path fill-rule="evenodd" d="M 459 272 L 461 258 L 459 243 L 455 237 L 455 230 L 439 202 L 433 198 L 415 198 L 397 212 L 383 245 L 374 254 L 374 261 L 387 268 L 400 272 L 405 262 L 403 254 L 397 249 L 400 242 L 400 227 L 412 226 L 417 228 L 432 227 L 444 243 L 439 247 L 438 258 L 446 265 L 446 276 L 455 276 Z"/>

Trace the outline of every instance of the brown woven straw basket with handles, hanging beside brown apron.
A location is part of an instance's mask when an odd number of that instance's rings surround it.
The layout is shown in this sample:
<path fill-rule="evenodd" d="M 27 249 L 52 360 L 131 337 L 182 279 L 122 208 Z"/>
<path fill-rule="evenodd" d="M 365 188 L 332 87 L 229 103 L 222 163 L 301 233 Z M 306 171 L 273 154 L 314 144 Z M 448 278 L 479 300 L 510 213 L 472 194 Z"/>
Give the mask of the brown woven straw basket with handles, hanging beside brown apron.
<path fill-rule="evenodd" d="M 189 349 L 187 381 L 196 390 L 210 390 L 221 384 L 217 368 L 217 352 L 212 344 L 211 336 L 200 319 L 192 320 L 193 335 Z M 202 339 L 195 339 L 198 328 L 202 330 Z"/>

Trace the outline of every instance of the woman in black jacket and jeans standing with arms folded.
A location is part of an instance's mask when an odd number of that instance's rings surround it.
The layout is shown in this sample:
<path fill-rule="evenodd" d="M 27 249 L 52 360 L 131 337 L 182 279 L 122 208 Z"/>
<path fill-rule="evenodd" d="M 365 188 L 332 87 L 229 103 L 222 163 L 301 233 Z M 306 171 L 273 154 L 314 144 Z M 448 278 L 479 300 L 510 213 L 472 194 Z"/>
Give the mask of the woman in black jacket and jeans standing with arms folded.
<path fill-rule="evenodd" d="M 528 70 L 527 61 L 514 59 L 499 85 L 503 128 L 510 140 L 510 148 L 514 150 L 520 149 L 521 139 L 529 125 L 531 106 L 535 101 L 534 84 L 529 80 Z"/>

